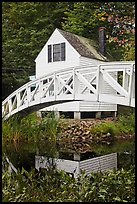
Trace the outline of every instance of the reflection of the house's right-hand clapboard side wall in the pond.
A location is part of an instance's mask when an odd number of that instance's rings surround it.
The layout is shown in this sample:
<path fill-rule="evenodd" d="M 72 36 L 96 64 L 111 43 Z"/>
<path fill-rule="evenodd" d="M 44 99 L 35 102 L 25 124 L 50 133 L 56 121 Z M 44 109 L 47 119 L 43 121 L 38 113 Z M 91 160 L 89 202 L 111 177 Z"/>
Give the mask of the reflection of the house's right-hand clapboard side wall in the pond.
<path fill-rule="evenodd" d="M 117 153 L 80 161 L 80 170 L 88 175 L 93 172 L 106 171 L 108 169 L 117 169 Z"/>

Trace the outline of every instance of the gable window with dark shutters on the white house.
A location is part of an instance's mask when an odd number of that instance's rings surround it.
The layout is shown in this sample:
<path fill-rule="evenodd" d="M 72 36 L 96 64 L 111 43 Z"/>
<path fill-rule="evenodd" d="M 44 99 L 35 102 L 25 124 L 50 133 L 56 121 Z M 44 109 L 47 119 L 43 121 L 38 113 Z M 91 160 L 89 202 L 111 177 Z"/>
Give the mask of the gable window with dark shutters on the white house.
<path fill-rule="evenodd" d="M 65 61 L 65 43 L 48 45 L 48 62 Z"/>

